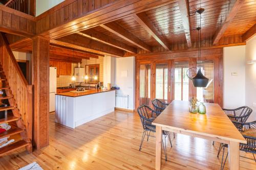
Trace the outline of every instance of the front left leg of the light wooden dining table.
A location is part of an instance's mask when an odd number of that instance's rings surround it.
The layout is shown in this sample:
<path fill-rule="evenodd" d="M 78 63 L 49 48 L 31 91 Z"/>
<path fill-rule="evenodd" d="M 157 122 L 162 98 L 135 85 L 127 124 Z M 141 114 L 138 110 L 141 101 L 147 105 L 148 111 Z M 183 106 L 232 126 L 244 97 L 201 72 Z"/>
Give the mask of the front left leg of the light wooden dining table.
<path fill-rule="evenodd" d="M 156 170 L 161 169 L 162 127 L 156 126 Z"/>

